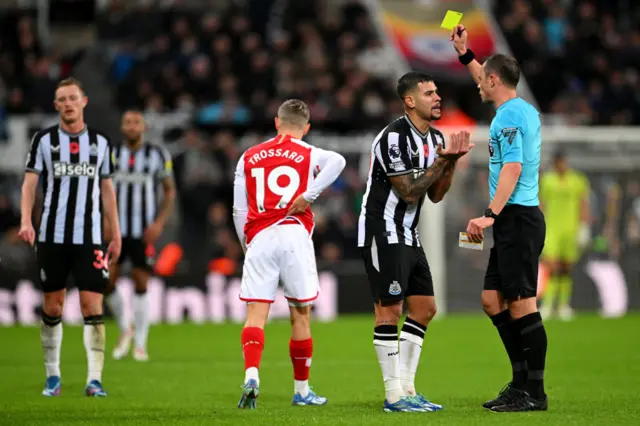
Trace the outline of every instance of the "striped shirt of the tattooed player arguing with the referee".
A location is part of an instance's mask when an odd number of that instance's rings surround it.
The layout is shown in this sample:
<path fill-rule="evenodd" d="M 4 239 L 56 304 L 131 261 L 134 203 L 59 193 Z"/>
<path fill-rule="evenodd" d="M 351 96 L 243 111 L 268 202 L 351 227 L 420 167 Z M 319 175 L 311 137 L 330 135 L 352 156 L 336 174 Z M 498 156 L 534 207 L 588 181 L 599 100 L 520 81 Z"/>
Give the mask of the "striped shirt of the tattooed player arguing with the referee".
<path fill-rule="evenodd" d="M 371 146 L 367 189 L 358 221 L 358 246 L 372 245 L 373 237 L 387 243 L 420 246 L 418 221 L 424 196 L 407 204 L 393 188 L 389 177 L 424 173 L 437 158 L 442 133 L 430 128 L 422 134 L 407 116 L 398 118 L 376 136 Z"/>

